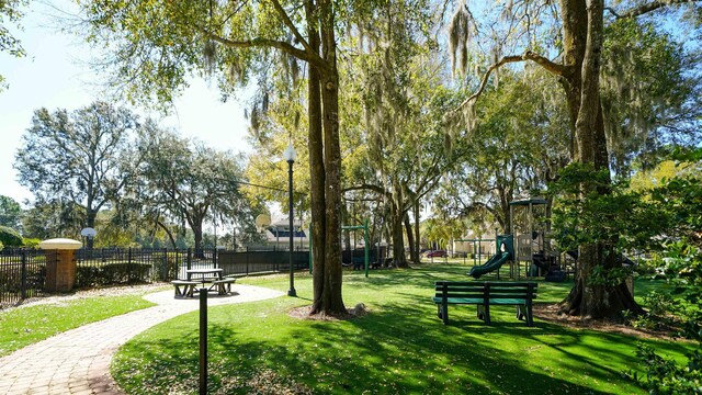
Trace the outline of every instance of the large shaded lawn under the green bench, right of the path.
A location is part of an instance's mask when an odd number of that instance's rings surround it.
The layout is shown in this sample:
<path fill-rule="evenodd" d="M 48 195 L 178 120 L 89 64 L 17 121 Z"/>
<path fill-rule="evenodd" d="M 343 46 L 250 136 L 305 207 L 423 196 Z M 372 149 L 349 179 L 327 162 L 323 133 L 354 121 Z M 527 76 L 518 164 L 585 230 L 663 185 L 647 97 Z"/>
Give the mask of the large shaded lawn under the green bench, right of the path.
<path fill-rule="evenodd" d="M 622 372 L 641 372 L 635 345 L 645 341 L 681 359 L 684 342 L 641 340 L 575 330 L 536 318 L 528 328 L 510 307 L 492 309 L 492 325 L 475 306 L 450 307 L 444 326 L 431 302 L 435 280 L 465 280 L 465 266 L 344 272 L 347 307 L 366 316 L 343 321 L 291 317 L 309 305 L 308 274 L 296 274 L 299 297 L 210 308 L 212 394 L 644 394 Z M 241 279 L 287 290 L 285 275 Z M 556 302 L 569 284 L 540 283 L 541 302 Z M 199 316 L 158 325 L 127 342 L 112 373 L 131 394 L 197 393 Z"/>

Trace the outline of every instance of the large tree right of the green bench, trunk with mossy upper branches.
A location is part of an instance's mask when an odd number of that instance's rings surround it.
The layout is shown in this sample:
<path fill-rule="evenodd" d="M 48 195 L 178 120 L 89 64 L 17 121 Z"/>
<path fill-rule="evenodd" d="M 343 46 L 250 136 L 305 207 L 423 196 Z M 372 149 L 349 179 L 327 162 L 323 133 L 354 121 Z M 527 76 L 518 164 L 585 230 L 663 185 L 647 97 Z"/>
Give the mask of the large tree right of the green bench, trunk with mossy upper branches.
<path fill-rule="evenodd" d="M 693 1 L 672 0 L 618 2 L 608 10 L 615 19 L 635 19 L 681 3 L 698 7 Z M 469 125 L 475 101 L 487 87 L 490 75 L 508 64 L 532 61 L 554 75 L 565 90 L 574 131 L 573 160 L 596 170 L 609 169 L 600 95 L 604 10 L 604 0 L 508 1 L 489 10 L 499 12 L 505 24 L 487 22 L 478 25 L 480 22 L 472 12 L 475 9 L 471 10 L 465 0 L 461 0 L 449 26 L 454 69 L 466 70 L 476 34 L 489 36 L 491 52 L 483 58 L 489 61 L 475 93 L 448 114 L 448 119 L 463 117 Z M 590 191 L 584 184 L 582 196 L 589 193 L 605 194 L 609 190 L 600 187 Z M 607 245 L 597 242 L 579 247 L 577 281 L 562 304 L 564 312 L 592 318 L 620 318 L 624 311 L 642 311 L 623 281 L 590 281 L 596 270 L 607 271 L 618 266 L 618 255 Z"/>

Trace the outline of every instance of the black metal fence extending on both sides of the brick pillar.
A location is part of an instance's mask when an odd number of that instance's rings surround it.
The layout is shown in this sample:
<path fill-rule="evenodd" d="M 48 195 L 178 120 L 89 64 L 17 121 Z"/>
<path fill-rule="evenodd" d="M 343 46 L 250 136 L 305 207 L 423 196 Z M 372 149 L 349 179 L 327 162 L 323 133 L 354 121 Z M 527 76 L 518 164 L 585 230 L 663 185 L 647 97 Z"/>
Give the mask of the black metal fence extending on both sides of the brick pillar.
<path fill-rule="evenodd" d="M 33 249 L 0 250 L 0 308 L 25 298 L 41 296 L 45 290 L 46 262 L 56 251 Z M 275 273 L 290 270 L 286 250 L 247 248 L 143 249 L 102 248 L 76 251 L 76 289 L 150 283 L 185 279 L 188 269 L 222 268 L 225 275 Z M 293 251 L 295 270 L 309 267 L 309 251 Z"/>

